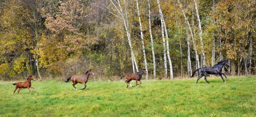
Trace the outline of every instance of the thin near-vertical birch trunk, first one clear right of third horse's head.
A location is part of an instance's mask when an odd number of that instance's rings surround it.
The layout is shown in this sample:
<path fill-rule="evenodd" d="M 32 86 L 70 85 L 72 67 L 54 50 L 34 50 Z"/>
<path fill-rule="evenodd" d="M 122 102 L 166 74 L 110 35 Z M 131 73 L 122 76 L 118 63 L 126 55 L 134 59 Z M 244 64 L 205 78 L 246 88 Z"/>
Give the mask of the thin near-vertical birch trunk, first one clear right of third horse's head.
<path fill-rule="evenodd" d="M 155 51 L 154 51 L 154 41 L 151 31 L 151 13 L 150 13 L 150 1 L 148 0 L 148 22 L 149 22 L 149 35 L 151 40 L 151 49 L 152 49 L 152 58 L 153 58 L 153 78 L 156 78 L 156 59 L 155 59 Z"/>

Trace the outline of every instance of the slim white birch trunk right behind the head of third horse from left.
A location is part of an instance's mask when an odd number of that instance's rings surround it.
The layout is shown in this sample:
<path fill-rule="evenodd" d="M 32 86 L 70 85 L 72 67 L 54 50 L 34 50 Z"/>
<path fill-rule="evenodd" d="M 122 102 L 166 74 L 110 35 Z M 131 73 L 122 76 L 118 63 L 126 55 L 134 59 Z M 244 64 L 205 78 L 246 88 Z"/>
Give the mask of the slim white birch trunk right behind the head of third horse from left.
<path fill-rule="evenodd" d="M 145 52 L 145 46 L 144 46 L 144 40 L 143 40 L 143 32 L 142 32 L 142 25 L 141 25 L 141 20 L 140 20 L 140 11 L 139 11 L 138 0 L 136 0 L 136 4 L 137 4 L 137 10 L 138 10 L 137 13 L 138 13 L 139 23 L 140 23 L 140 37 L 141 37 L 142 52 L 143 52 L 143 57 L 144 57 L 144 64 L 145 64 L 145 69 L 148 73 L 148 64 L 147 64 L 146 52 Z M 148 74 L 146 75 L 146 80 L 148 80 Z"/>

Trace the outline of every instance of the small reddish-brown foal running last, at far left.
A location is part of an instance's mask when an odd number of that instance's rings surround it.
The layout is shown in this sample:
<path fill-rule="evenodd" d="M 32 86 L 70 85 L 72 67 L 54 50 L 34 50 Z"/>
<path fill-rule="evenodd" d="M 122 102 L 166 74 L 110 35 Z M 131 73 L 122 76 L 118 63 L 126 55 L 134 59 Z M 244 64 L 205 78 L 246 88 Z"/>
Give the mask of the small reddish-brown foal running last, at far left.
<path fill-rule="evenodd" d="M 36 93 L 36 90 L 33 86 L 31 86 L 31 80 L 36 80 L 32 75 L 30 75 L 27 80 L 25 82 L 18 82 L 18 83 L 14 83 L 13 85 L 16 85 L 16 88 L 14 89 L 14 92 L 13 94 L 15 93 L 15 91 L 19 88 L 18 90 L 18 94 L 20 94 L 20 89 L 21 88 L 28 88 L 29 92 L 31 93 L 30 89 L 29 88 L 33 88 L 35 93 Z"/>

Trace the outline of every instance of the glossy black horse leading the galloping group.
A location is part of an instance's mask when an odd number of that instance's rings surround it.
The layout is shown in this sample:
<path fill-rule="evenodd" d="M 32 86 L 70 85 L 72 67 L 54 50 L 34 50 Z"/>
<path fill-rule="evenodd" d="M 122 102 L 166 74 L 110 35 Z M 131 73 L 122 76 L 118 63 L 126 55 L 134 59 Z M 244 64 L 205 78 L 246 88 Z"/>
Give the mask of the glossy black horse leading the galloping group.
<path fill-rule="evenodd" d="M 225 66 L 225 65 L 228 66 L 228 67 L 230 67 L 230 64 L 229 64 L 228 60 L 222 60 L 222 61 L 218 62 L 218 64 L 214 65 L 213 67 L 202 67 L 202 68 L 198 68 L 198 69 L 196 69 L 196 70 L 193 72 L 193 74 L 192 74 L 191 77 L 193 77 L 193 76 L 195 75 L 196 71 L 198 71 L 199 69 L 201 69 L 201 70 L 200 70 L 200 71 L 201 71 L 201 76 L 199 76 L 199 77 L 197 78 L 196 83 L 198 82 L 198 80 L 199 80 L 200 78 L 202 78 L 202 77 L 204 76 L 205 81 L 206 81 L 208 84 L 210 84 L 210 83 L 207 81 L 207 79 L 206 79 L 206 74 L 219 74 L 220 77 L 222 78 L 223 82 L 226 83 L 225 80 L 224 80 L 223 77 L 222 77 L 222 74 L 223 74 L 226 78 L 227 78 L 227 76 L 226 76 L 224 73 L 221 73 L 221 69 L 222 69 L 222 67 Z"/>

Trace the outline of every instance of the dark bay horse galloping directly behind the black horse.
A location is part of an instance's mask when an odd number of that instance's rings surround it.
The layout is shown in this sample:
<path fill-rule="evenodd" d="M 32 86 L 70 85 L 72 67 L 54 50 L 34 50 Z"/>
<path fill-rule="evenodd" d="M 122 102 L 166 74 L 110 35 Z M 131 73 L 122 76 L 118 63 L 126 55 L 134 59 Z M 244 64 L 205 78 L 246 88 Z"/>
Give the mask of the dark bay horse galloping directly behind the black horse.
<path fill-rule="evenodd" d="M 142 69 L 142 70 L 140 70 L 138 73 L 132 73 L 132 74 L 123 75 L 123 76 L 121 77 L 121 79 L 125 76 L 125 78 L 126 78 L 125 83 L 127 84 L 127 87 L 128 87 L 129 85 L 131 85 L 131 84 L 130 84 L 131 80 L 136 80 L 136 85 L 135 85 L 135 86 L 137 86 L 137 85 L 140 85 L 140 84 L 141 84 L 141 80 L 140 80 L 140 79 L 141 79 L 141 77 L 142 77 L 143 74 L 148 75 L 146 69 Z M 138 81 L 140 82 L 140 84 L 138 84 Z M 131 85 L 131 87 L 134 87 L 134 86 Z"/>

